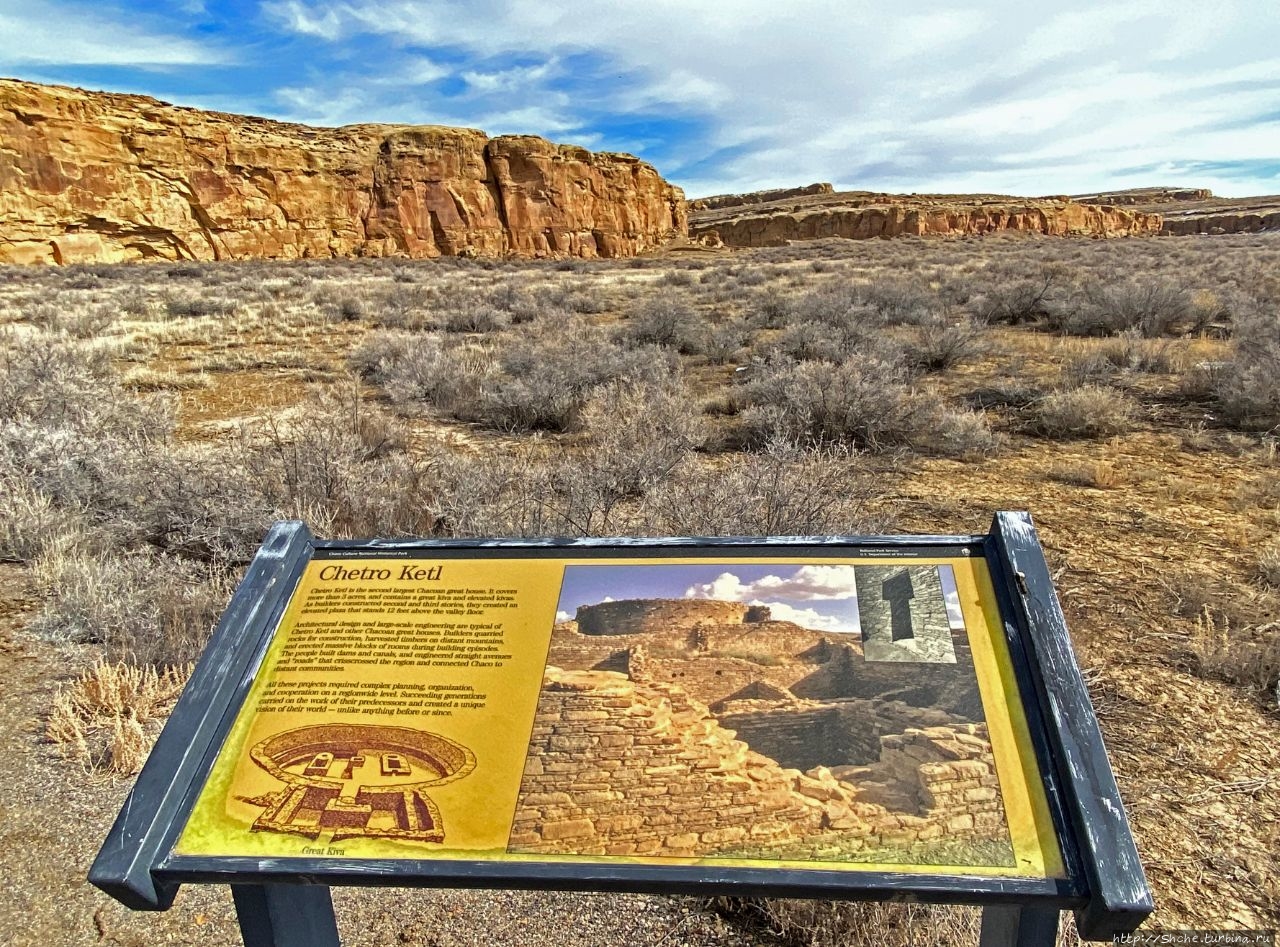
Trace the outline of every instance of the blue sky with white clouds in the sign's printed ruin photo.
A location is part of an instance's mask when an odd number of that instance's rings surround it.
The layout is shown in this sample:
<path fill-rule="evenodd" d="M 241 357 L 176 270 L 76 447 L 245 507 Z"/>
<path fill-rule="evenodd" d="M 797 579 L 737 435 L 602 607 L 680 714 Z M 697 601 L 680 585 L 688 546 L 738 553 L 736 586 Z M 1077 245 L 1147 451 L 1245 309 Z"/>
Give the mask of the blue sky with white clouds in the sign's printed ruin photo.
<path fill-rule="evenodd" d="M 951 627 L 963 628 L 955 572 L 940 569 Z M 854 567 L 844 564 L 566 566 L 556 619 L 576 617 L 580 605 L 623 599 L 745 601 L 768 605 L 771 618 L 805 628 L 861 631 Z"/>

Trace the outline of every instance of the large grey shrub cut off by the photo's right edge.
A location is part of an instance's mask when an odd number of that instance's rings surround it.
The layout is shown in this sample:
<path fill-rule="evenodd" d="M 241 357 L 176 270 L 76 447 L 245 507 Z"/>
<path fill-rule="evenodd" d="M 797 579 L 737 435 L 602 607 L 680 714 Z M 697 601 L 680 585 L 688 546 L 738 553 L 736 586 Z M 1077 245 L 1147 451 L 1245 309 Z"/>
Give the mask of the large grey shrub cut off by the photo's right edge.
<path fill-rule="evenodd" d="M 1249 430 L 1280 426 L 1280 315 L 1258 305 L 1235 322 L 1231 357 L 1217 367 L 1208 386 L 1224 416 Z"/>

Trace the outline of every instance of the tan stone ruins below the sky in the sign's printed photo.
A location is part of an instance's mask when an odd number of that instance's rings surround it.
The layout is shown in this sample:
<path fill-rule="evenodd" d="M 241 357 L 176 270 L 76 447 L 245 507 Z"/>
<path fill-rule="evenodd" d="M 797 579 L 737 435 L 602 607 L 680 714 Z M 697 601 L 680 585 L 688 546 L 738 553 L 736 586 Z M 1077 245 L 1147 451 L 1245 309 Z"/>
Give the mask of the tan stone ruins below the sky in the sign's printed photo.
<path fill-rule="evenodd" d="M 867 581 L 910 580 L 925 632 L 936 591 L 950 662 L 872 662 L 742 603 L 582 607 L 553 635 L 511 848 L 1012 864 L 968 637 L 925 572 Z"/>

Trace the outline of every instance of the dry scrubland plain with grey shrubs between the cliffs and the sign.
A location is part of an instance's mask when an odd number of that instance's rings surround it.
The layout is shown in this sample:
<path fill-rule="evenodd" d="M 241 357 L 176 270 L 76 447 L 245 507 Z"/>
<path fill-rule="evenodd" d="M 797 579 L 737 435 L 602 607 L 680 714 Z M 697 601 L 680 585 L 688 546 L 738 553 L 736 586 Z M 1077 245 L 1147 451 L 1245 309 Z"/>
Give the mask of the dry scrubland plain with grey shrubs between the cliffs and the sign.
<path fill-rule="evenodd" d="M 1152 923 L 1280 923 L 1275 235 L 5 267 L 0 340 L 0 558 L 31 587 L 9 635 L 78 662 L 27 740 L 68 779 L 136 770 L 274 520 L 984 532 L 1029 509 Z M 975 937 L 959 909 L 721 909 L 791 943 Z"/>

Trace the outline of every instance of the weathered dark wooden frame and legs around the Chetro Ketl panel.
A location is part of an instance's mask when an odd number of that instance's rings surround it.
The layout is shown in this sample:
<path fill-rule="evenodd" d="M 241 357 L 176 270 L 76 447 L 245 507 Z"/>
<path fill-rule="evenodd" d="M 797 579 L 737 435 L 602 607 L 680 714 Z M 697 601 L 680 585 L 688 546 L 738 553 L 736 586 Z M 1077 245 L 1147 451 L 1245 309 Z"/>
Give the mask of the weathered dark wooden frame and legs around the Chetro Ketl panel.
<path fill-rule="evenodd" d="M 435 558 L 874 555 L 965 549 L 987 562 L 1065 878 L 925 875 L 707 865 L 567 861 L 210 857 L 174 845 L 253 683 L 289 596 L 316 550 L 422 552 Z M 1057 912 L 1080 935 L 1111 939 L 1152 911 L 1124 805 L 1030 516 L 997 513 L 987 535 L 768 539 L 320 541 L 274 526 L 250 564 L 184 694 L 138 776 L 90 880 L 134 910 L 166 910 L 183 883 L 230 884 L 250 947 L 337 944 L 329 887 L 512 887 L 928 901 L 986 907 L 983 944 L 1052 943 Z"/>

